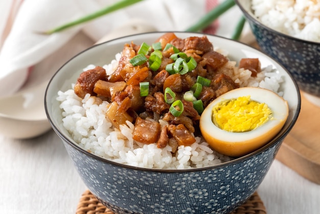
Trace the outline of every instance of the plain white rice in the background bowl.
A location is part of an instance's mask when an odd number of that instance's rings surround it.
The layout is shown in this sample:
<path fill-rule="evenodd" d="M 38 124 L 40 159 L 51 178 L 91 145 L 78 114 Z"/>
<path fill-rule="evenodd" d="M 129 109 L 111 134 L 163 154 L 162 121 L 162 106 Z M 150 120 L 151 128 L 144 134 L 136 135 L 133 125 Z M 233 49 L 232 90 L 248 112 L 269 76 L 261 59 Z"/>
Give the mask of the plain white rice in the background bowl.
<path fill-rule="evenodd" d="M 320 42 L 319 0 L 252 0 L 264 25 L 293 37 Z"/>

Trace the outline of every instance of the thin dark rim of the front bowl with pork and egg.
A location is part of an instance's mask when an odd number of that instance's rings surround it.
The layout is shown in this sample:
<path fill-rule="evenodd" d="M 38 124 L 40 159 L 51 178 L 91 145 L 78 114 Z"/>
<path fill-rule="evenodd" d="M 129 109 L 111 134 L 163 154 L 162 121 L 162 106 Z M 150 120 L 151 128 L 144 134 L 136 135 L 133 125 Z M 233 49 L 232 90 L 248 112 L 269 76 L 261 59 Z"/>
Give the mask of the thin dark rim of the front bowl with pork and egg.
<path fill-rule="evenodd" d="M 67 64 L 69 63 L 70 61 L 72 61 L 74 58 L 76 58 L 77 56 L 81 55 L 82 53 L 90 50 L 90 49 L 94 49 L 98 46 L 102 46 L 108 42 L 112 42 L 114 40 L 117 40 L 117 39 L 122 39 L 122 38 L 126 38 L 126 37 L 132 37 L 132 36 L 139 36 L 139 35 L 145 35 L 145 34 L 164 34 L 164 33 L 167 33 L 167 32 L 173 32 L 173 33 L 191 33 L 191 34 L 194 34 L 194 35 L 205 35 L 205 36 L 213 36 L 213 37 L 218 37 L 218 38 L 222 38 L 222 39 L 226 39 L 226 40 L 230 40 L 230 41 L 233 41 L 233 42 L 237 42 L 239 44 L 242 44 L 244 46 L 246 46 L 246 48 L 249 48 L 249 49 L 254 49 L 256 51 L 258 51 L 260 54 L 262 55 L 265 55 L 269 58 L 271 58 L 273 61 L 275 61 L 275 63 L 277 63 L 287 74 L 288 76 L 290 77 L 290 79 L 292 80 L 293 84 L 294 84 L 294 87 L 296 89 L 296 92 L 297 92 L 297 95 L 298 95 L 298 102 L 297 102 L 297 106 L 296 106 L 296 109 L 295 109 L 295 114 L 293 115 L 292 117 L 292 120 L 291 122 L 288 124 L 288 127 L 286 130 L 284 130 L 284 132 L 282 133 L 282 135 L 280 136 L 277 136 L 277 138 L 275 139 L 272 139 L 271 141 L 269 141 L 268 143 L 266 143 L 264 146 L 262 146 L 261 148 L 259 149 L 256 149 L 254 152 L 251 152 L 247 155 L 244 155 L 244 156 L 241 156 L 241 157 L 237 157 L 233 160 L 230 160 L 230 161 L 226 161 L 226 162 L 223 162 L 223 163 L 219 163 L 219 164 L 215 164 L 215 165 L 211 165 L 211 166 L 203 166 L 203 167 L 198 167 L 198 168 L 188 168 L 188 169 L 159 169 L 159 168 L 144 168 L 144 167 L 138 167 L 138 166 L 131 166 L 131 165 L 127 165 L 127 164 L 123 164 L 123 163 L 118 163 L 118 162 L 115 162 L 115 161 L 112 161 L 112 160 L 107 160 L 106 158 L 103 158 L 103 157 L 100 157 L 98 155 L 95 155 L 93 153 L 90 153 L 88 151 L 86 151 L 84 148 L 82 148 L 81 146 L 79 146 L 76 142 L 72 142 L 70 139 L 68 139 L 66 136 L 64 136 L 64 134 L 62 132 L 60 132 L 59 128 L 56 126 L 56 124 L 54 123 L 54 121 L 51 119 L 51 112 L 49 112 L 48 110 L 48 103 L 50 101 L 50 99 L 48 100 L 47 102 L 47 97 L 48 97 L 48 93 L 49 93 L 49 88 L 50 88 L 50 85 L 53 81 L 53 79 L 56 77 L 56 75 L 62 70 L 62 68 Z M 288 133 L 291 131 L 292 127 L 294 126 L 296 120 L 298 119 L 298 116 L 300 114 L 300 109 L 301 109 L 301 94 L 300 94 L 300 91 L 299 91 L 299 87 L 298 87 L 298 84 L 296 83 L 296 81 L 293 79 L 292 75 L 279 63 L 277 62 L 275 59 L 273 59 L 271 56 L 269 56 L 268 54 L 266 53 L 263 53 L 262 51 L 254 48 L 254 47 L 251 47 L 247 44 L 245 44 L 244 42 L 241 42 L 241 41 L 236 41 L 236 40 L 233 40 L 233 39 L 230 39 L 230 38 L 225 38 L 223 36 L 218 36 L 218 35 L 212 35 L 212 34 L 207 34 L 207 33 L 201 33 L 201 32 L 186 32 L 186 31 L 154 31 L 154 32 L 147 32 L 147 33 L 138 33 L 138 34 L 132 34 L 132 35 L 128 35 L 128 36 L 122 36 L 122 37 L 118 37 L 118 38 L 114 38 L 114 39 L 111 39 L 111 40 L 108 40 L 108 41 L 104 41 L 102 42 L 101 44 L 96 44 L 96 45 L 93 45 L 92 47 L 89 47 L 87 49 L 84 49 L 83 51 L 79 52 L 78 54 L 76 54 L 75 56 L 73 56 L 72 58 L 70 58 L 69 60 L 67 60 L 56 72 L 55 74 L 51 77 L 48 85 L 47 85 L 47 88 L 45 89 L 45 94 L 44 94 L 44 108 L 45 108 L 45 114 L 47 115 L 48 117 L 48 120 L 49 120 L 49 123 L 51 124 L 52 126 L 52 129 L 56 132 L 56 134 L 63 140 L 65 141 L 68 145 L 74 147 L 76 150 L 78 150 L 80 153 L 83 153 L 87 156 L 90 156 L 94 159 L 97 159 L 97 160 L 100 160 L 102 162 L 105 162 L 105 163 L 108 163 L 108 164 L 111 164 L 111 165 L 116 165 L 116 166 L 120 166 L 120 167 L 123 167 L 123 168 L 128 168 L 128 169 L 132 169 L 132 170 L 139 170 L 139 171 L 148 171 L 148 172 L 157 172 L 157 173 L 184 173 L 184 172 L 199 172 L 199 171 L 202 171 L 202 170 L 208 170 L 208 169 L 218 169 L 218 168 L 221 168 L 221 167 L 225 167 L 225 166 L 230 166 L 230 165 L 233 165 L 233 164 L 236 164 L 238 162 L 242 162 L 242 161 L 245 161 L 247 159 L 250 159 L 256 155 L 259 155 L 265 151 L 267 151 L 270 147 L 278 144 L 278 143 L 282 143 L 282 141 L 284 140 L 284 138 L 288 135 Z"/>

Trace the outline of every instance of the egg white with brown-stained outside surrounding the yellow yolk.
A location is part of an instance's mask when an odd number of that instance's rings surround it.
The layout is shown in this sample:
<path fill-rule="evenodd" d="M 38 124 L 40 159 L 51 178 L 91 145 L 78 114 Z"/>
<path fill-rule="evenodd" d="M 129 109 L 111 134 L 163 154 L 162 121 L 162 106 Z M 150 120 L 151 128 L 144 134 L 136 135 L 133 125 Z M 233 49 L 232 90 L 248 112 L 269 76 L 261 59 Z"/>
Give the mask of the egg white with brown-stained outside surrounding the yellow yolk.
<path fill-rule="evenodd" d="M 242 96 L 250 96 L 251 100 L 266 103 L 272 111 L 272 118 L 263 125 L 248 132 L 234 133 L 220 129 L 212 122 L 212 109 L 224 100 L 236 99 Z M 203 138 L 217 152 L 238 157 L 266 144 L 282 129 L 289 114 L 288 103 L 278 94 L 262 88 L 244 87 L 229 91 L 204 109 L 200 118 L 200 131 Z"/>

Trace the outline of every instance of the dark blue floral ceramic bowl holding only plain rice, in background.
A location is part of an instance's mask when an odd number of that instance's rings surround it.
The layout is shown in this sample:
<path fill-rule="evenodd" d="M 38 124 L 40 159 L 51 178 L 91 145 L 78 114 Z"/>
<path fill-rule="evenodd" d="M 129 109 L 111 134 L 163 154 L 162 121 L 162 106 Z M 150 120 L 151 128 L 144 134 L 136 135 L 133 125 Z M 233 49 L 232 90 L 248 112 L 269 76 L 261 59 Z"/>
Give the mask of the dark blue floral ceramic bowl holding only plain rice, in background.
<path fill-rule="evenodd" d="M 295 38 L 263 25 L 255 17 L 252 0 L 236 0 L 261 50 L 283 65 L 306 98 L 320 106 L 320 43 Z"/>

